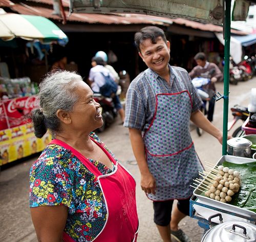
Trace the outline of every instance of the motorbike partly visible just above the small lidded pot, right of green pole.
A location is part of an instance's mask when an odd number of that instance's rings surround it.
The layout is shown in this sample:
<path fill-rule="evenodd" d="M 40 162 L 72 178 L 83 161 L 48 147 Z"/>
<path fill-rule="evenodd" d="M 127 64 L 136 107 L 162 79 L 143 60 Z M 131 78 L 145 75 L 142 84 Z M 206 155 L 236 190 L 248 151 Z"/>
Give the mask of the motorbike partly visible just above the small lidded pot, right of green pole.
<path fill-rule="evenodd" d="M 227 124 L 227 130 L 229 131 L 234 124 L 238 122 L 238 120 L 242 120 L 245 122 L 245 120 L 249 117 L 248 108 L 244 106 L 234 105 L 230 108 L 233 115 L 233 120 L 228 122 Z M 233 131 L 232 137 L 242 137 L 245 135 L 245 131 L 242 130 L 242 125 L 236 128 Z"/>

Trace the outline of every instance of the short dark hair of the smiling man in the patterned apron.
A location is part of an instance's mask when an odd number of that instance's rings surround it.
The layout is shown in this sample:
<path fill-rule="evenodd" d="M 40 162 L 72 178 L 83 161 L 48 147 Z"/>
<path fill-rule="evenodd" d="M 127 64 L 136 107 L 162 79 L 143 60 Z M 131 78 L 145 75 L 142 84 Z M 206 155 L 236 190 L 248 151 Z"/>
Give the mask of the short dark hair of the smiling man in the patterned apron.
<path fill-rule="evenodd" d="M 167 42 L 166 36 L 162 29 L 155 26 L 148 26 L 142 28 L 134 36 L 135 45 L 138 51 L 140 52 L 140 44 L 142 41 L 144 41 L 145 39 L 151 39 L 152 43 L 156 43 L 157 37 L 162 37 L 163 41 L 165 43 Z"/>

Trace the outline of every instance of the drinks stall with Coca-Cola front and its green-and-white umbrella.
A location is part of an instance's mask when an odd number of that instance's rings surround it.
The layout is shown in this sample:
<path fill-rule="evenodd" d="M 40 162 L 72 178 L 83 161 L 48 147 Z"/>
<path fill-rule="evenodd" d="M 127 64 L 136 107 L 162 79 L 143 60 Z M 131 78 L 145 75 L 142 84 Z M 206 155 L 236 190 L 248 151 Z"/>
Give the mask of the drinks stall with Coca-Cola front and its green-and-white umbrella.
<path fill-rule="evenodd" d="M 0 27 L 5 41 L 19 37 L 44 44 L 68 42 L 65 33 L 41 16 L 0 14 Z M 29 77 L 0 77 L 0 167 L 43 150 L 51 140 L 48 133 L 42 139 L 34 136 L 30 112 L 38 106 L 36 94 L 37 83 Z"/>

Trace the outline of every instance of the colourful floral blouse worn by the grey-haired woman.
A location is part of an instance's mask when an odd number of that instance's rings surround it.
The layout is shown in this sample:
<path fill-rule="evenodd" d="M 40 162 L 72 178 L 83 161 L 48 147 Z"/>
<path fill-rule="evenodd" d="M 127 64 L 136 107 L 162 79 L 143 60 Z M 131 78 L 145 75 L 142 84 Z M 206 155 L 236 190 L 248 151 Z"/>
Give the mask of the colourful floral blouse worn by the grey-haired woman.
<path fill-rule="evenodd" d="M 110 154 L 95 133 L 90 136 Z M 102 174 L 104 164 L 90 160 Z M 69 208 L 65 232 L 75 241 L 92 241 L 106 222 L 106 206 L 98 181 L 73 153 L 49 144 L 30 169 L 30 207 L 65 205 Z"/>

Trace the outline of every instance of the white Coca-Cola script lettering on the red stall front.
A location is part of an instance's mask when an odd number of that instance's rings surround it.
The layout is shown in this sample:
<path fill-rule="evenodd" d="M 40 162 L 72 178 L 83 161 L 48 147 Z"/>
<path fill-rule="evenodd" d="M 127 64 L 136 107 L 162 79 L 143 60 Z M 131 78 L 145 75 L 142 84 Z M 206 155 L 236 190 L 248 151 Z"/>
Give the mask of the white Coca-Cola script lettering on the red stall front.
<path fill-rule="evenodd" d="M 38 101 L 35 96 L 22 98 L 22 99 L 12 99 L 7 106 L 7 111 L 9 113 L 14 113 L 17 108 L 32 109 L 38 106 Z"/>

